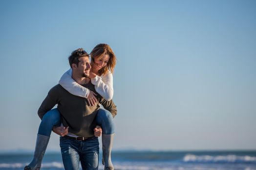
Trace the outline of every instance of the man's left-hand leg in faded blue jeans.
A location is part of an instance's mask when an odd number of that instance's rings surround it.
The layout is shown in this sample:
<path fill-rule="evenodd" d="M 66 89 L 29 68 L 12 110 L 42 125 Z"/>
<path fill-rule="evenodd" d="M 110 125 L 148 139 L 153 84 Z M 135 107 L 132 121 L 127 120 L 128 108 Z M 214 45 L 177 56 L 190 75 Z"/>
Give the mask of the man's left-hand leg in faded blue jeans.
<path fill-rule="evenodd" d="M 79 142 L 65 137 L 60 138 L 62 161 L 65 170 L 79 169 Z"/>

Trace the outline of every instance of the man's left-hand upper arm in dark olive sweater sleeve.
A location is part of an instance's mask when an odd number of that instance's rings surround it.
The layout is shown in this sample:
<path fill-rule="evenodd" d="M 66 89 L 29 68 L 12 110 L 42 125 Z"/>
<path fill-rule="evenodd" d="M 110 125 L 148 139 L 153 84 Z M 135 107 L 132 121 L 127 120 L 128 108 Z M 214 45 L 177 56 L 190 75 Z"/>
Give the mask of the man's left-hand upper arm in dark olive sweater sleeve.
<path fill-rule="evenodd" d="M 41 106 L 38 109 L 38 116 L 41 120 L 43 119 L 43 115 L 49 110 L 51 110 L 59 102 L 56 87 L 57 85 L 50 89 L 46 98 L 43 100 Z"/>

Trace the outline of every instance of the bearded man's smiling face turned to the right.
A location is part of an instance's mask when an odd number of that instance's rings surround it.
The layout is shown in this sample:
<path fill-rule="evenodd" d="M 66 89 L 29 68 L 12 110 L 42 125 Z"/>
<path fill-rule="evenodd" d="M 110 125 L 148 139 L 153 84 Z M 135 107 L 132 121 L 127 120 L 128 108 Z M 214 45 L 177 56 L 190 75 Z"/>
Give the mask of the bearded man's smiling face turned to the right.
<path fill-rule="evenodd" d="M 79 76 L 88 77 L 91 69 L 89 57 L 80 57 L 79 60 L 78 67 L 73 69 L 76 69 L 76 73 L 79 74 Z"/>

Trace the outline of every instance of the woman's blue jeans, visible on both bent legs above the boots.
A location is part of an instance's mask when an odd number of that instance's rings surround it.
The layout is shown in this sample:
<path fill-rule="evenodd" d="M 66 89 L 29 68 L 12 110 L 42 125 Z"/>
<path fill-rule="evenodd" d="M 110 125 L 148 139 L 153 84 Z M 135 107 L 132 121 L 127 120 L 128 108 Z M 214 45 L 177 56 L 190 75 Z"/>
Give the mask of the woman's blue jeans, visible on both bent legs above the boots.
<path fill-rule="evenodd" d="M 103 134 L 113 134 L 114 133 L 114 122 L 113 117 L 109 111 L 106 109 L 99 109 L 96 115 L 96 123 L 102 127 Z M 61 125 L 61 115 L 59 110 L 52 109 L 43 115 L 43 119 L 40 123 L 38 134 L 44 136 L 51 136 L 52 128 L 54 126 Z"/>

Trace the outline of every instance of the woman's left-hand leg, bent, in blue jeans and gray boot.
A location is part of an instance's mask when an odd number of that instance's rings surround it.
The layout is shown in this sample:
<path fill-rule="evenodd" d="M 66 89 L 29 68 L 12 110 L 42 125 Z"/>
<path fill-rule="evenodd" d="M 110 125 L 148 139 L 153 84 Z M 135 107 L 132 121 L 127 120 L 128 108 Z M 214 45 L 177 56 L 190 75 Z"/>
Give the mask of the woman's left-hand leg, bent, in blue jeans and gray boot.
<path fill-rule="evenodd" d="M 61 116 L 58 109 L 52 109 L 43 116 L 38 130 L 34 158 L 29 165 L 25 166 L 24 170 L 40 170 L 52 128 L 53 126 L 60 126 L 60 124 Z"/>

